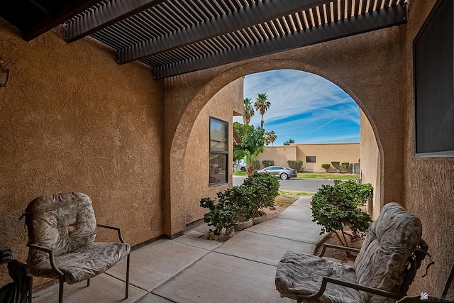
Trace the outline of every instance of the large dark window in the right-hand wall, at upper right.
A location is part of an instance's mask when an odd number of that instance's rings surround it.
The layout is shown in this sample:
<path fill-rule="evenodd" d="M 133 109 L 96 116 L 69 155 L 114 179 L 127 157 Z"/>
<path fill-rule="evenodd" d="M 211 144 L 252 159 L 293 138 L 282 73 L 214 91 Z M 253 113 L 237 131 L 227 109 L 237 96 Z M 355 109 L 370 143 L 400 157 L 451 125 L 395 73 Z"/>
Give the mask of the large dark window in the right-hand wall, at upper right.
<path fill-rule="evenodd" d="M 416 157 L 454 156 L 453 1 L 439 0 L 413 43 Z"/>

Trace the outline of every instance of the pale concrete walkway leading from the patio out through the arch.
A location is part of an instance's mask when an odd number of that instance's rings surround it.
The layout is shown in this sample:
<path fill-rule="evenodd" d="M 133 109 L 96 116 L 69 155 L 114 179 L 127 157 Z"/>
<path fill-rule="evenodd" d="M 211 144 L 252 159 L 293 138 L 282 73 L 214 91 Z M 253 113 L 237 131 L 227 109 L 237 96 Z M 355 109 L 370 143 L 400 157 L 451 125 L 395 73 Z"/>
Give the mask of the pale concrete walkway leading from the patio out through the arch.
<path fill-rule="evenodd" d="M 311 197 L 301 197 L 275 219 L 241 231 L 225 243 L 191 233 L 161 239 L 131 253 L 129 298 L 126 260 L 86 282 L 65 283 L 64 302 L 294 302 L 275 289 L 277 263 L 287 250 L 312 253 L 321 239 L 311 221 Z M 58 285 L 36 292 L 35 303 L 58 302 Z"/>

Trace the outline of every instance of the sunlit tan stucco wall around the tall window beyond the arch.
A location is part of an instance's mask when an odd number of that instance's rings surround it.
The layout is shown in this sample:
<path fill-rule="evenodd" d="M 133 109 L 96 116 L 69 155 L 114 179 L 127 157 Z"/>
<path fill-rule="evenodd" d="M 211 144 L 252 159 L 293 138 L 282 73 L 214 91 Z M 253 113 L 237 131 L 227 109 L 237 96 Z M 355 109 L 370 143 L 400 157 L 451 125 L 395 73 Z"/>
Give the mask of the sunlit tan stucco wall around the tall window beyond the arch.
<path fill-rule="evenodd" d="M 233 161 L 233 112 L 243 111 L 243 78 L 231 82 L 217 92 L 204 106 L 194 122 L 186 154 L 184 156 L 184 191 L 175 199 L 181 199 L 184 207 L 184 225 L 202 219 L 207 209 L 200 206 L 202 197 L 216 197 L 232 184 L 232 165 L 228 165 L 228 184 L 209 187 L 209 119 L 210 116 L 228 121 L 228 163 Z M 184 226 L 180 226 L 184 228 Z"/>

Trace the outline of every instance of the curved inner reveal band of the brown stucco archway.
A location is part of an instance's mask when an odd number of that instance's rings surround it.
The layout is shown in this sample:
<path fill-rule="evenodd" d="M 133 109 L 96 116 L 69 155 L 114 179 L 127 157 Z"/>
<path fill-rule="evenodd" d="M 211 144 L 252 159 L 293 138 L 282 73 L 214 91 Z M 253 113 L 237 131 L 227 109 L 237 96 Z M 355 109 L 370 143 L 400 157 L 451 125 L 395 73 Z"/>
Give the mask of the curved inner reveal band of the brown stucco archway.
<path fill-rule="evenodd" d="M 290 68 L 291 67 L 291 68 Z M 200 180 L 197 180 L 192 177 L 186 177 L 186 179 L 182 180 L 182 176 L 192 175 L 188 174 L 189 170 L 194 171 L 194 167 L 198 167 L 198 165 L 191 164 L 191 160 L 188 159 L 187 148 L 189 145 L 189 141 L 191 139 L 191 131 L 194 123 L 196 123 L 197 116 L 199 113 L 204 109 L 204 106 L 216 96 L 216 93 L 220 92 L 221 89 L 224 87 L 228 87 L 234 82 L 238 82 L 238 79 L 242 81 L 242 78 L 245 75 L 250 75 L 255 72 L 263 72 L 267 70 L 280 70 L 280 69 L 292 69 L 292 70 L 299 70 L 304 72 L 311 72 L 315 75 L 319 75 L 328 81 L 331 81 L 341 87 L 347 94 L 352 97 L 360 109 L 362 110 L 362 119 L 367 119 L 370 123 L 367 126 L 370 128 L 370 135 L 373 137 L 373 141 L 375 142 L 375 146 L 377 149 L 377 157 L 374 159 L 376 170 L 375 175 L 382 174 L 382 145 L 380 143 L 380 134 L 377 132 L 377 127 L 373 119 L 371 119 L 370 115 L 368 114 L 367 107 L 362 101 L 357 97 L 355 94 L 355 87 L 350 87 L 348 83 L 344 83 L 341 80 L 341 77 L 333 77 L 329 72 L 323 70 L 319 70 L 318 68 L 314 67 L 313 65 L 307 65 L 298 61 L 291 61 L 291 60 L 266 60 L 261 62 L 253 62 L 247 63 L 244 65 L 238 65 L 237 67 L 233 67 L 231 70 L 227 70 L 217 77 L 209 80 L 200 89 L 194 92 L 192 98 L 187 99 L 187 106 L 182 113 L 181 119 L 179 119 L 177 127 L 175 129 L 175 135 L 172 138 L 172 145 L 170 148 L 170 184 L 168 187 L 168 197 L 165 200 L 165 211 L 167 216 L 165 218 L 165 222 L 167 222 L 167 235 L 176 235 L 177 233 L 181 232 L 184 226 L 194 219 L 194 216 L 189 214 L 186 211 L 187 203 L 188 203 L 188 193 L 189 191 L 197 190 L 196 184 L 200 183 Z M 231 114 L 231 113 L 230 113 Z M 198 144 L 204 144 L 204 140 L 200 141 Z M 206 148 L 206 145 L 201 145 L 201 148 Z M 376 189 L 375 199 L 377 199 L 377 204 L 382 204 L 382 178 L 376 177 L 377 184 L 380 184 Z M 184 184 L 184 185 L 183 185 Z M 206 187 L 207 184 L 202 184 L 202 186 Z M 204 193 L 211 193 L 214 194 L 222 190 L 223 188 L 218 187 L 211 191 L 206 191 Z M 194 194 L 194 197 L 197 194 Z M 206 194 L 203 196 L 205 197 Z M 196 201 L 198 202 L 198 201 Z M 195 206 L 194 201 L 191 203 L 193 207 Z M 380 206 L 378 206 L 380 208 Z M 200 219 L 200 218 L 199 218 Z"/>

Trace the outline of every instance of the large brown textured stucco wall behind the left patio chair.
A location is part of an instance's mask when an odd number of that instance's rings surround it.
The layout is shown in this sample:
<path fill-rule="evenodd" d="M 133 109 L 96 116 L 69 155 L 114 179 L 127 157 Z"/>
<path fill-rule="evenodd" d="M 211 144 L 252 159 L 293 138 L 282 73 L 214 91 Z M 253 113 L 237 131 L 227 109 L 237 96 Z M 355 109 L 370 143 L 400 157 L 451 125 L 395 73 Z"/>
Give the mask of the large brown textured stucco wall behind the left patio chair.
<path fill-rule="evenodd" d="M 42 194 L 79 191 L 96 220 L 131 245 L 162 235 L 162 82 L 142 65 L 116 65 L 93 40 L 52 31 L 26 43 L 0 19 L 0 247 L 25 261 L 18 221 Z M 0 285 L 9 279 L 0 265 Z"/>

